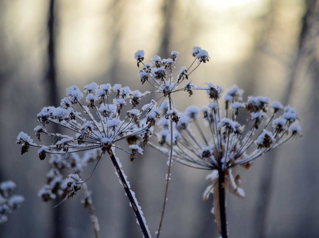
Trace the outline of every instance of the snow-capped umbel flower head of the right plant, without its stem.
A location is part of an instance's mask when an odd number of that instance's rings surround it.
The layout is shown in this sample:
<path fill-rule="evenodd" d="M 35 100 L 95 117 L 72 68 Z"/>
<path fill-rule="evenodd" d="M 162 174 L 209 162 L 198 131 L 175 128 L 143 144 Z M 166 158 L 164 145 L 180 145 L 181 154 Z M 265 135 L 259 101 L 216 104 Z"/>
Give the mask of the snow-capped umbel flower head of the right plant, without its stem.
<path fill-rule="evenodd" d="M 179 147 L 174 149 L 176 161 L 200 168 L 222 170 L 236 165 L 248 166 L 256 157 L 278 147 L 292 136 L 301 134 L 299 124 L 292 124 L 297 119 L 294 108 L 286 106 L 284 113 L 278 115 L 283 106 L 275 102 L 271 104 L 273 110 L 270 110 L 268 116 L 268 97 L 250 96 L 244 103 L 243 90 L 237 86 L 226 93 L 225 101 L 228 102 L 228 106 L 223 118 L 218 97 L 213 95 L 215 90 L 221 91 L 221 87 L 211 83 L 206 85 L 206 90 L 212 91 L 208 93 L 212 102 L 201 110 L 205 123 L 199 122 L 198 108 L 189 107 L 186 110 L 182 117 L 185 126 L 176 127 L 181 134 L 177 141 L 177 144 L 180 142 Z M 239 123 L 239 115 L 246 116 L 245 124 Z M 266 121 L 267 117 L 270 119 Z M 207 128 L 203 128 L 204 126 Z M 201 159 L 204 147 L 209 147 L 213 151 L 214 158 L 210 161 Z"/>

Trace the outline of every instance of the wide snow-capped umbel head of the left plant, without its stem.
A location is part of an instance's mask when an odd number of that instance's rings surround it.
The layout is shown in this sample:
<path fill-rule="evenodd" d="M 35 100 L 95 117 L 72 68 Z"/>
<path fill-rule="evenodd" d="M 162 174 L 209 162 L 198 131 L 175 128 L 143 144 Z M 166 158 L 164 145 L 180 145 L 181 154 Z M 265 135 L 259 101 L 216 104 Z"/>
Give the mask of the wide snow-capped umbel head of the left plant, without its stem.
<path fill-rule="evenodd" d="M 142 52 L 137 52 L 137 59 L 141 58 Z M 62 99 L 60 107 L 43 108 L 38 113 L 41 126 L 34 129 L 36 136 L 40 140 L 41 134 L 47 134 L 58 140 L 52 145 L 37 145 L 27 134 L 20 132 L 17 143 L 22 144 L 21 153 L 34 146 L 40 148 L 38 153 L 41 159 L 45 158 L 46 153 L 65 154 L 95 148 L 100 148 L 101 153 L 112 154 L 112 148 L 117 147 L 115 143 L 122 139 L 137 136 L 143 141 L 151 136 L 150 128 L 158 118 L 154 116 L 158 110 L 157 103 L 152 101 L 142 110 L 136 108 L 141 97 L 148 92 L 131 91 L 129 87 L 120 84 L 112 87 L 110 84 L 99 86 L 93 82 L 84 87 L 84 93 L 86 98 L 83 103 L 83 93 L 78 87 L 71 86 L 67 88 L 68 97 Z M 131 105 L 131 110 L 123 113 L 127 105 Z M 146 121 L 146 124 L 141 123 L 141 120 L 147 118 L 152 120 Z M 48 133 L 44 128 L 48 123 L 67 128 L 72 134 Z"/>

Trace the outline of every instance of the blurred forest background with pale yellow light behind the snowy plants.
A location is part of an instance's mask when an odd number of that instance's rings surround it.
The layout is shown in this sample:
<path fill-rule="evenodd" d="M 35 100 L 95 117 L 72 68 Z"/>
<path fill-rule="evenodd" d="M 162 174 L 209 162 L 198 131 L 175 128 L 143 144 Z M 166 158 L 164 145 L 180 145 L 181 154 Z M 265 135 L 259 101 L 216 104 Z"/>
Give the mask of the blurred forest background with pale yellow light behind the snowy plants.
<path fill-rule="evenodd" d="M 21 208 L 0 225 L 0 237 L 93 237 L 81 191 L 57 208 L 37 196 L 48 162 L 34 149 L 21 156 L 17 135 L 32 135 L 36 114 L 44 106 L 58 106 L 71 85 L 83 88 L 95 81 L 148 90 L 138 80 L 136 50 L 145 50 L 146 62 L 179 51 L 178 73 L 192 62 L 195 45 L 211 56 L 192 75 L 197 86 L 210 81 L 227 90 L 237 84 L 245 99 L 260 95 L 290 104 L 303 131 L 301 139 L 242 171 L 247 198 L 228 196 L 229 237 L 319 237 L 318 43 L 314 0 L 0 1 L 0 181 L 14 180 L 15 193 L 25 196 Z M 185 100 L 174 100 L 180 109 L 208 103 L 196 92 L 181 97 Z M 151 148 L 134 163 L 126 154 L 117 156 L 155 236 L 167 158 Z M 173 163 L 161 237 L 219 237 L 212 201 L 202 200 L 206 175 Z M 107 157 L 88 185 L 101 237 L 142 236 Z"/>

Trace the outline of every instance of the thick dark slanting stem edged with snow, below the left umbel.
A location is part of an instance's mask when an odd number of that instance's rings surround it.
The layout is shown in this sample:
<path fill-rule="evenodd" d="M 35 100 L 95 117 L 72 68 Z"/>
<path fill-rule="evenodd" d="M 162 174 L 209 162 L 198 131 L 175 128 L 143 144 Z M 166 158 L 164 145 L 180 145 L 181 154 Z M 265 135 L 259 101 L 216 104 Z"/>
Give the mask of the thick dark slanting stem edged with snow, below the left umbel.
<path fill-rule="evenodd" d="M 138 205 L 135 202 L 135 199 L 134 199 L 135 196 L 132 195 L 132 191 L 130 189 L 130 186 L 127 184 L 127 181 L 123 176 L 122 169 L 121 169 L 120 165 L 117 163 L 117 160 L 116 160 L 113 153 L 112 153 L 112 155 L 110 155 L 110 157 L 111 157 L 112 163 L 115 167 L 116 173 L 120 177 L 120 180 L 121 180 L 121 183 L 122 183 L 123 188 L 125 190 L 125 193 L 130 200 L 130 203 L 131 203 L 132 208 L 134 210 L 138 224 L 141 227 L 142 233 L 143 233 L 145 238 L 150 238 L 150 235 L 149 235 L 148 230 L 146 228 L 146 224 L 145 224 L 145 221 L 144 221 L 143 216 L 141 214 L 141 211 L 138 209 Z"/>

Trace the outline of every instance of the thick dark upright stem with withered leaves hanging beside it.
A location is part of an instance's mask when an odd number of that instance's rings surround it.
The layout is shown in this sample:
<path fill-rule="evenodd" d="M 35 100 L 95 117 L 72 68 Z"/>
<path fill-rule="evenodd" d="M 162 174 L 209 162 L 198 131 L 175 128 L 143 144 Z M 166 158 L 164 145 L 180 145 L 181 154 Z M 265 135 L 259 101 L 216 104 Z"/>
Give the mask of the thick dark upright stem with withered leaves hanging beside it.
<path fill-rule="evenodd" d="M 222 169 L 219 169 L 218 170 L 218 188 L 219 188 L 221 236 L 222 238 L 228 238 L 224 182 L 225 182 L 225 172 Z"/>

